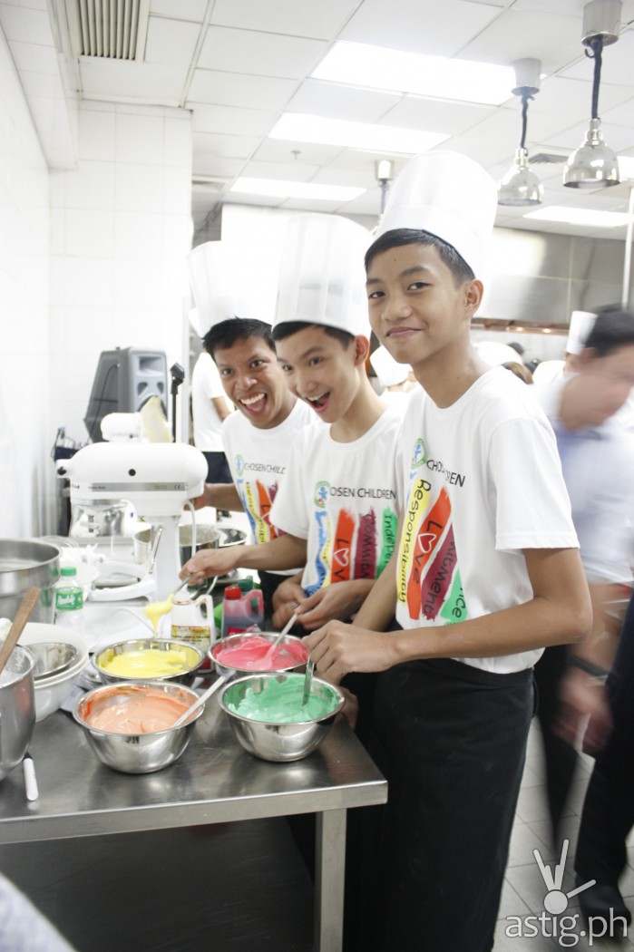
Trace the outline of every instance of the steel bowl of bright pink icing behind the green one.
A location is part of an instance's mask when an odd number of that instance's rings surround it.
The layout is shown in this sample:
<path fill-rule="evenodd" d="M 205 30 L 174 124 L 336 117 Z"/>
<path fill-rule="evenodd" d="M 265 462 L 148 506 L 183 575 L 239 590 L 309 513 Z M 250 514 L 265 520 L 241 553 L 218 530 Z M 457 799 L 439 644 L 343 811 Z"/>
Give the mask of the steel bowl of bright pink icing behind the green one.
<path fill-rule="evenodd" d="M 211 647 L 211 659 L 218 674 L 228 676 L 299 671 L 306 667 L 308 649 L 301 638 L 285 635 L 280 645 L 271 652 L 271 645 L 276 638 L 274 631 L 230 635 Z"/>

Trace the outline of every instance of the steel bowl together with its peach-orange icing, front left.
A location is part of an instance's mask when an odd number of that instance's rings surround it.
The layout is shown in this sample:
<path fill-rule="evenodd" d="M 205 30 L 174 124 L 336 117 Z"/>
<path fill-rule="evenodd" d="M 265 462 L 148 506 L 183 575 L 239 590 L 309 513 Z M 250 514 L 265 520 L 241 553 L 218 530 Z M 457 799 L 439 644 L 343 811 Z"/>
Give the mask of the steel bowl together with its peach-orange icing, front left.
<path fill-rule="evenodd" d="M 182 684 L 106 684 L 89 691 L 72 712 L 102 764 L 122 773 L 153 773 L 174 764 L 204 707 L 187 724 L 173 724 L 198 695 Z"/>

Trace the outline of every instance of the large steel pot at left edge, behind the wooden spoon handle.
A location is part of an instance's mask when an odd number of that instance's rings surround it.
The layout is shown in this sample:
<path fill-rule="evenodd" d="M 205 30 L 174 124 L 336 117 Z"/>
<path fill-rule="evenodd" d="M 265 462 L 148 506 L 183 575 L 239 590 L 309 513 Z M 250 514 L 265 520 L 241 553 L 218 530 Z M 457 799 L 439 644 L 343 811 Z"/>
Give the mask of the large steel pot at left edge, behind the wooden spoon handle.
<path fill-rule="evenodd" d="M 34 539 L 0 539 L 0 616 L 12 619 L 27 588 L 40 589 L 31 622 L 52 625 L 53 586 L 59 578 L 59 549 Z"/>

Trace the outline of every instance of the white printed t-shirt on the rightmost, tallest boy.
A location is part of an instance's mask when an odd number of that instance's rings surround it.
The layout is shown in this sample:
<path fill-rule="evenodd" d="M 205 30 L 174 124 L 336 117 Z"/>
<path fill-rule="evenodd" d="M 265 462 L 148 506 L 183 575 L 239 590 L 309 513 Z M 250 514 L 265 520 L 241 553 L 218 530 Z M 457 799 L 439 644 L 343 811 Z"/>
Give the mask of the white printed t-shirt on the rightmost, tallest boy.
<path fill-rule="evenodd" d="M 396 618 L 404 628 L 522 605 L 533 596 L 522 549 L 578 547 L 552 428 L 531 387 L 505 367 L 487 370 L 445 409 L 421 389 L 402 441 Z M 457 660 L 506 674 L 541 654 Z"/>

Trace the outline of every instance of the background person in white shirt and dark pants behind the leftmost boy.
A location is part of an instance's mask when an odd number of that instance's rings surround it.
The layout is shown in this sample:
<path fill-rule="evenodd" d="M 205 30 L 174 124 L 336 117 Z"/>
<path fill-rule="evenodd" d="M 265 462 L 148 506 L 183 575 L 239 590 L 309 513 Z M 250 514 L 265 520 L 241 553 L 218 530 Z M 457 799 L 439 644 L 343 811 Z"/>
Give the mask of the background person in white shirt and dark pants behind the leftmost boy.
<path fill-rule="evenodd" d="M 230 412 L 218 367 L 203 350 L 191 372 L 191 416 L 194 446 L 207 460 L 208 483 L 231 482 L 222 438 L 223 420 Z"/>

